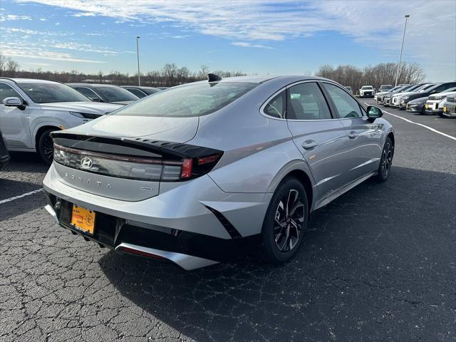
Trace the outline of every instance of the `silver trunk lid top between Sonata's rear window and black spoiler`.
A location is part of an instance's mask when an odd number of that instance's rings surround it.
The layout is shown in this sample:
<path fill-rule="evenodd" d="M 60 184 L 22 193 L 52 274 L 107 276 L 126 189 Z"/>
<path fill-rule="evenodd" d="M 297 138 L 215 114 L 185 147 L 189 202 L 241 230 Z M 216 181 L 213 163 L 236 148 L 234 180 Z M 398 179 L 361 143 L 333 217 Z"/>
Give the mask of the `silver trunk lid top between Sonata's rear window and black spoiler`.
<path fill-rule="evenodd" d="M 143 138 L 187 142 L 195 137 L 199 118 L 160 118 L 130 115 L 105 115 L 68 133 L 117 138 Z"/>

